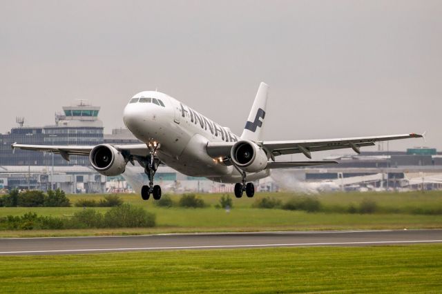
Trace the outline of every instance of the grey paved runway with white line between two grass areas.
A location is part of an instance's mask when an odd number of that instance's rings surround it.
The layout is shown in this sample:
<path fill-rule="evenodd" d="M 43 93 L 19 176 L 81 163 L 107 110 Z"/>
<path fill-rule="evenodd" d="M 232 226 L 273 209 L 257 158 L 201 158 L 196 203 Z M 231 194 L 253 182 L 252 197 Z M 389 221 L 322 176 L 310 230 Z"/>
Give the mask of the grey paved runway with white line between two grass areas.
<path fill-rule="evenodd" d="M 192 233 L 115 237 L 2 238 L 0 239 L 0 255 L 436 243 L 442 244 L 442 230 Z"/>

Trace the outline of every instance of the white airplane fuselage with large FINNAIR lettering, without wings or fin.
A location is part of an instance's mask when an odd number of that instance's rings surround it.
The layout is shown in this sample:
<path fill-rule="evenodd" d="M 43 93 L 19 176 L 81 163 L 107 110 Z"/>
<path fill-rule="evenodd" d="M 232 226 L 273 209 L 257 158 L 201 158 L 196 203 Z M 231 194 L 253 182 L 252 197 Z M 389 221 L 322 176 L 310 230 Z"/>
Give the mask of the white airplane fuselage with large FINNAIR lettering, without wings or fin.
<path fill-rule="evenodd" d="M 123 119 L 137 139 L 145 144 L 159 143 L 157 157 L 180 173 L 207 177 L 216 182 L 241 182 L 242 177 L 236 168 L 226 166 L 206 153 L 208 142 L 238 141 L 240 138 L 229 128 L 200 115 L 180 101 L 162 92 L 140 92 L 124 108 Z M 247 180 L 268 175 L 269 170 L 265 169 L 248 174 Z"/>

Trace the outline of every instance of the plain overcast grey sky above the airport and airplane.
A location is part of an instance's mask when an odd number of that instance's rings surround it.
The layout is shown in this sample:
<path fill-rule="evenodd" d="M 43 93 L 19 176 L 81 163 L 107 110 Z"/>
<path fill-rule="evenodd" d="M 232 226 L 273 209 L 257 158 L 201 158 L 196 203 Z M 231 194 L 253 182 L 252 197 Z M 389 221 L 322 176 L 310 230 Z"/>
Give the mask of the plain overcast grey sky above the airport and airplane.
<path fill-rule="evenodd" d="M 265 81 L 264 139 L 427 130 L 442 150 L 441 15 L 442 1 L 2 0 L 0 133 L 75 99 L 110 133 L 158 88 L 240 135 Z"/>

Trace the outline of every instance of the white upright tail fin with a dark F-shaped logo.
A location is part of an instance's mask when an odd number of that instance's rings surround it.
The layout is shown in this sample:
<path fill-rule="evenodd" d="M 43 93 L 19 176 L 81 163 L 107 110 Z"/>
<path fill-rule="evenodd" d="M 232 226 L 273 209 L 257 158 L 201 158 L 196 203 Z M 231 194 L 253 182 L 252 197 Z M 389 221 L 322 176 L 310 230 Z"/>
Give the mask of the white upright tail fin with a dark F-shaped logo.
<path fill-rule="evenodd" d="M 242 131 L 241 139 L 251 141 L 260 140 L 262 124 L 264 124 L 265 118 L 268 90 L 269 85 L 265 83 L 260 84 L 260 88 L 258 88 L 255 101 L 253 101 L 253 106 L 250 110 L 249 119 L 247 119 L 244 131 Z"/>

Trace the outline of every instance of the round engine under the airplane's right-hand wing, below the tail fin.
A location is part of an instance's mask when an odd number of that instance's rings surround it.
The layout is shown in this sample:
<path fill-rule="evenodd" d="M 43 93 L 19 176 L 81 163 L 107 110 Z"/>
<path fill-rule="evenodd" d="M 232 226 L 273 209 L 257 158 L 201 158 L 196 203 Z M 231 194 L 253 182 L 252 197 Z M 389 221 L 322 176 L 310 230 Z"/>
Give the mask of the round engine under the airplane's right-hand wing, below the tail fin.
<path fill-rule="evenodd" d="M 252 141 L 236 142 L 231 149 L 231 158 L 238 168 L 248 173 L 258 173 L 267 166 L 267 155 Z"/>

